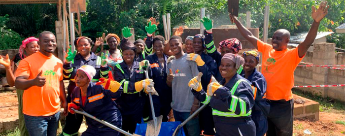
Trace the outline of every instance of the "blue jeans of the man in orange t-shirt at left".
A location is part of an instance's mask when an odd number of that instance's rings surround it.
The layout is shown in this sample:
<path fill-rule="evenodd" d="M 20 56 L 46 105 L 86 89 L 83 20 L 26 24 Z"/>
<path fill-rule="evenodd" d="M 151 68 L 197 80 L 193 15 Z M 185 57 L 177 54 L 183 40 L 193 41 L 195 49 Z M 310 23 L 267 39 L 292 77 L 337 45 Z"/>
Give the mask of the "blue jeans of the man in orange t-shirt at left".
<path fill-rule="evenodd" d="M 60 111 L 51 116 L 35 117 L 24 114 L 24 118 L 30 136 L 56 136 Z"/>

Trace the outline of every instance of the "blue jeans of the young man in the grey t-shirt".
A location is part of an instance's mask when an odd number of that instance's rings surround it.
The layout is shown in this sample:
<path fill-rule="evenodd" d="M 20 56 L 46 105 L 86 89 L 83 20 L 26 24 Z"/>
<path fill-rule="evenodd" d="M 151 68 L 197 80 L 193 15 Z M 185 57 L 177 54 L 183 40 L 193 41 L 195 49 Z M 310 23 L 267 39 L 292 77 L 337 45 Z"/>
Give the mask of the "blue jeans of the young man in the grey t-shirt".
<path fill-rule="evenodd" d="M 178 112 L 173 110 L 175 121 L 183 122 L 189 117 L 190 112 Z M 193 118 L 183 126 L 186 136 L 200 136 L 199 119 Z"/>

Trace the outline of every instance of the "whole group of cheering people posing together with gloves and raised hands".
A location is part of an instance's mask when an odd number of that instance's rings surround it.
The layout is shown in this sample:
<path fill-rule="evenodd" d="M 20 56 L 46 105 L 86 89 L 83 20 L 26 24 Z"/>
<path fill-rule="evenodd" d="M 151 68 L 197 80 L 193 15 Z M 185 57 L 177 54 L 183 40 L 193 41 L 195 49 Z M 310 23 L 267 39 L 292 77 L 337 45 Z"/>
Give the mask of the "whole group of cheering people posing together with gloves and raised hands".
<path fill-rule="evenodd" d="M 168 121 L 183 122 L 201 104 L 199 116 L 185 126 L 186 136 L 292 136 L 293 72 L 314 41 L 328 6 L 312 7 L 313 23 L 297 48 L 288 49 L 290 33 L 277 30 L 272 45 L 264 43 L 246 29 L 232 14 L 242 36 L 255 50 L 244 51 L 236 38 L 219 43 L 212 36 L 212 21 L 201 19 L 205 32 L 183 40 L 173 35 L 169 41 L 155 35 L 157 23 L 145 27 L 147 37 L 134 43 L 128 40 L 130 28 L 122 29 L 120 40 L 108 34 L 109 50 L 96 54 L 103 38 L 93 41 L 85 36 L 74 40 L 76 50 L 64 62 L 52 55 L 57 47 L 55 35 L 42 32 L 29 37 L 13 62 L 0 56 L 6 79 L 16 86 L 21 136 L 56 136 L 60 107 L 66 116 L 62 136 L 77 136 L 83 109 L 133 134 L 144 118 L 152 119 L 148 93 L 152 94 L 155 115 Z M 184 43 L 183 43 L 184 41 Z M 262 72 L 256 67 L 262 62 Z M 145 70 L 149 78 L 145 77 Z M 65 93 L 63 80 L 69 80 Z M 68 113 L 69 112 L 69 113 Z M 86 117 L 82 136 L 119 136 L 119 132 Z"/>

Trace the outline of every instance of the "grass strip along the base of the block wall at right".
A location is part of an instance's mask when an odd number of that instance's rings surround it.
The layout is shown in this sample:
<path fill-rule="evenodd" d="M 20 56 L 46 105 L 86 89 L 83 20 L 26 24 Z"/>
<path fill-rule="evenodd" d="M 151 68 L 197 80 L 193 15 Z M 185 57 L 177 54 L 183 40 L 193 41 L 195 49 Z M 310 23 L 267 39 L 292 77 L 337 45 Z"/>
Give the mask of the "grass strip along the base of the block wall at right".
<path fill-rule="evenodd" d="M 292 93 L 315 102 L 319 102 L 320 111 L 345 114 L 345 102 L 340 102 L 331 98 L 322 98 L 321 96 L 314 96 L 309 92 L 297 89 L 292 89 Z"/>

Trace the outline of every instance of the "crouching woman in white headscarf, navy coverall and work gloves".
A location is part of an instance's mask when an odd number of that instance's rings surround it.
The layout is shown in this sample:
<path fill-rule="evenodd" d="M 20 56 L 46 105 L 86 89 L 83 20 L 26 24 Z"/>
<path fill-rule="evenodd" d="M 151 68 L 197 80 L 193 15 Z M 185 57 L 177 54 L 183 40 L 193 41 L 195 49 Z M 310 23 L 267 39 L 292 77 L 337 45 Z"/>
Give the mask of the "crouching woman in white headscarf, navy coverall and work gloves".
<path fill-rule="evenodd" d="M 122 88 L 120 89 L 119 83 L 114 80 L 110 84 L 115 84 L 114 86 L 117 87 L 96 85 L 96 83 L 91 82 L 95 74 L 96 69 L 92 66 L 85 65 L 78 68 L 75 75 L 77 87 L 74 88 L 70 96 L 72 101 L 69 103 L 69 112 L 74 114 L 71 108 L 78 110 L 81 107 L 85 112 L 96 118 L 121 128 L 121 113 L 112 99 L 120 97 Z M 119 89 L 120 91 L 118 91 Z M 82 136 L 119 136 L 119 132 L 103 124 L 88 117 L 85 117 L 85 119 L 88 127 Z"/>

